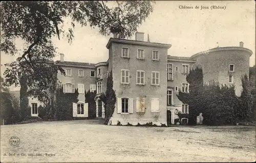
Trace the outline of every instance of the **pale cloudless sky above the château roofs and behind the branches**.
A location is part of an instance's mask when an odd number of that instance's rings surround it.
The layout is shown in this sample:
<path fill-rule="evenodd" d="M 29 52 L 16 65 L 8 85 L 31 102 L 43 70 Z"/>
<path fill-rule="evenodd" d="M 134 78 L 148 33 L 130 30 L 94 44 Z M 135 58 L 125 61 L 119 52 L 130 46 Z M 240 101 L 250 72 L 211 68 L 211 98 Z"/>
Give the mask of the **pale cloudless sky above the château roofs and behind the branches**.
<path fill-rule="evenodd" d="M 226 9 L 211 10 L 210 6 L 225 6 Z M 179 9 L 180 6 L 194 9 Z M 199 9 L 195 9 L 198 6 Z M 209 9 L 201 10 L 201 6 Z M 254 1 L 156 1 L 154 11 L 137 29 L 147 34 L 151 42 L 169 43 L 172 47 L 168 55 L 190 57 L 198 52 L 219 46 L 239 46 L 253 53 L 250 66 L 255 65 L 255 2 Z M 70 27 L 67 20 L 64 29 Z M 106 43 L 110 36 L 102 36 L 97 28 L 90 26 L 74 29 L 74 40 L 68 43 L 66 38 L 54 37 L 58 53 L 65 55 L 65 61 L 97 63 L 108 60 Z M 129 39 L 135 39 L 135 35 Z M 22 40 L 16 41 L 22 46 Z M 218 42 L 218 43 L 217 43 Z M 59 60 L 57 55 L 55 60 Z M 4 64 L 14 61 L 16 57 L 1 52 L 1 76 Z"/>

